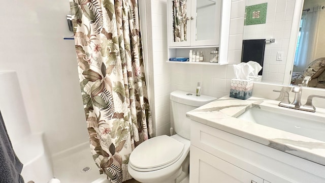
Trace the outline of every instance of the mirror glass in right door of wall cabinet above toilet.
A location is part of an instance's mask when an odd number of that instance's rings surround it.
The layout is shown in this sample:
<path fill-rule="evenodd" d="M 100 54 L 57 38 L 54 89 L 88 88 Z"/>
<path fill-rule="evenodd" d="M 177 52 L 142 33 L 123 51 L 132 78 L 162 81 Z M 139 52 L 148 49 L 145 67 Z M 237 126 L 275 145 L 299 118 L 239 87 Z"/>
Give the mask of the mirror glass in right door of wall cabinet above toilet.
<path fill-rule="evenodd" d="M 211 22 L 216 22 L 214 12 L 215 0 L 197 0 L 197 17 L 196 17 L 196 40 L 209 40 L 215 36 L 215 26 Z"/>

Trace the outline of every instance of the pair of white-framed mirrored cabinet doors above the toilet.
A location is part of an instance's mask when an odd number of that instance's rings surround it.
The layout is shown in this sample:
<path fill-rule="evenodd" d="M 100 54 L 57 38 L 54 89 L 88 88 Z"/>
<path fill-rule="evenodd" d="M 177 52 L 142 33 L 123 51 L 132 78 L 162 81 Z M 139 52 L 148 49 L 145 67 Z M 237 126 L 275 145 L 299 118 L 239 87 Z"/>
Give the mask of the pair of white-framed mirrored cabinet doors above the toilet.
<path fill-rule="evenodd" d="M 217 46 L 221 0 L 168 0 L 169 47 Z"/>

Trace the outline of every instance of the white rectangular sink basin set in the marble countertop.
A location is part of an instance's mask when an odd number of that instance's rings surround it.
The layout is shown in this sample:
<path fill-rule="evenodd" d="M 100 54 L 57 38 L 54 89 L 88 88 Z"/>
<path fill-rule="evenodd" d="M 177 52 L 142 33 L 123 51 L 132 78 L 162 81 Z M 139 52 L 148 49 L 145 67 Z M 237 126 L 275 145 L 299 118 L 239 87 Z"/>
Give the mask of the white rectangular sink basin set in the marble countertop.
<path fill-rule="evenodd" d="M 325 121 L 317 121 L 309 118 L 274 111 L 250 108 L 237 118 L 250 121 L 259 125 L 283 130 L 305 137 L 325 141 Z"/>

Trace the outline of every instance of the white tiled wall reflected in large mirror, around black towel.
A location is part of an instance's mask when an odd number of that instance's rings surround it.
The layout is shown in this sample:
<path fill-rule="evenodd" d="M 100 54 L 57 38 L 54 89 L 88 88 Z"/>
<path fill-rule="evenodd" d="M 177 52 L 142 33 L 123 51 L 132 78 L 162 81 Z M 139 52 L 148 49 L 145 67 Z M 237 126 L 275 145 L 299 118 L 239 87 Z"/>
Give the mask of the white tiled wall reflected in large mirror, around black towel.
<path fill-rule="evenodd" d="M 244 39 L 270 39 L 275 43 L 266 44 L 262 81 L 283 83 L 291 24 L 295 8 L 295 0 L 246 0 L 246 6 L 268 3 L 265 24 L 245 25 Z M 277 61 L 276 55 L 282 51 L 283 60 Z M 291 69 L 291 68 L 288 68 Z"/>

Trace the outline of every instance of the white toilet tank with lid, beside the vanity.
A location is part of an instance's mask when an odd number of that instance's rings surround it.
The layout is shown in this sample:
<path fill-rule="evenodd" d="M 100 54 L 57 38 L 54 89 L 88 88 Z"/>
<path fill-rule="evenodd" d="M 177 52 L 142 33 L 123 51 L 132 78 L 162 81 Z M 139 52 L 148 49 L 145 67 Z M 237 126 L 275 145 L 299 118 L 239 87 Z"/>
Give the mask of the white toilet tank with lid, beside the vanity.
<path fill-rule="evenodd" d="M 206 95 L 197 97 L 194 93 L 176 90 L 171 93 L 170 99 L 174 130 L 178 135 L 189 139 L 190 119 L 186 118 L 186 112 L 212 102 L 217 98 Z"/>

